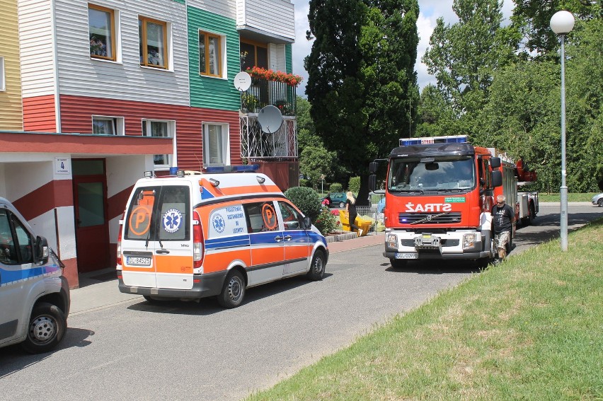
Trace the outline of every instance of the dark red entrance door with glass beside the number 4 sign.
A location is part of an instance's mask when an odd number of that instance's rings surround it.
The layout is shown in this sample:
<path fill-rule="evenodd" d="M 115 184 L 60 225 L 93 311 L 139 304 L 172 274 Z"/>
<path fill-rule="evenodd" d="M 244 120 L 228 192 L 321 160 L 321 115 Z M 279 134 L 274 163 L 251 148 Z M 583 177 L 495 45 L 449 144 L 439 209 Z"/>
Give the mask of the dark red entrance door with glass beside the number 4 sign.
<path fill-rule="evenodd" d="M 78 271 L 109 266 L 107 179 L 104 160 L 73 160 Z"/>

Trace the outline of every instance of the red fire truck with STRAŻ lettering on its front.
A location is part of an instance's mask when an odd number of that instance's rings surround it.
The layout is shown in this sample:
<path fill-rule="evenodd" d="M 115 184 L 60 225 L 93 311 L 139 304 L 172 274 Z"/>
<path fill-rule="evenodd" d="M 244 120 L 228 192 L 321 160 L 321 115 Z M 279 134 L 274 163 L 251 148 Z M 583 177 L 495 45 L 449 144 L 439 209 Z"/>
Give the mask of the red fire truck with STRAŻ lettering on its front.
<path fill-rule="evenodd" d="M 464 135 L 401 139 L 388 159 L 370 163 L 371 190 L 384 161 L 383 255 L 393 267 L 455 259 L 488 265 L 497 254 L 490 214 L 495 197 L 505 194 L 526 223 L 538 211 L 537 192 L 517 193 L 517 164 L 496 149 L 469 144 Z M 520 179 L 534 181 L 536 175 L 519 164 Z"/>

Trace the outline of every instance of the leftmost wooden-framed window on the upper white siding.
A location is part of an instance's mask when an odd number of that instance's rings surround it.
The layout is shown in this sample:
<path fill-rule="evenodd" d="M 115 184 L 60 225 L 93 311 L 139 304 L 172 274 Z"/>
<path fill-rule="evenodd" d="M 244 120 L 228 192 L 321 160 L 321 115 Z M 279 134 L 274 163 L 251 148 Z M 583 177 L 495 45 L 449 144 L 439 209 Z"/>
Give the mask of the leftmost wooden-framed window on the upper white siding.
<path fill-rule="evenodd" d="M 115 61 L 114 13 L 110 8 L 88 4 L 90 57 Z"/>

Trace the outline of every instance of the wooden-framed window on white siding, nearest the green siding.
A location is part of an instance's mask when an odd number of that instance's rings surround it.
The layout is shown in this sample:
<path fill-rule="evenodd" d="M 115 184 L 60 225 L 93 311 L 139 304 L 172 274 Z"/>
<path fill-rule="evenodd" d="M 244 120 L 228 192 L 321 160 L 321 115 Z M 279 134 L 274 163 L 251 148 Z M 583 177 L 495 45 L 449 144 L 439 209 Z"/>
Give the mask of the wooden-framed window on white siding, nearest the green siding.
<path fill-rule="evenodd" d="M 167 24 L 164 22 L 139 17 L 140 65 L 168 68 L 167 30 Z"/>

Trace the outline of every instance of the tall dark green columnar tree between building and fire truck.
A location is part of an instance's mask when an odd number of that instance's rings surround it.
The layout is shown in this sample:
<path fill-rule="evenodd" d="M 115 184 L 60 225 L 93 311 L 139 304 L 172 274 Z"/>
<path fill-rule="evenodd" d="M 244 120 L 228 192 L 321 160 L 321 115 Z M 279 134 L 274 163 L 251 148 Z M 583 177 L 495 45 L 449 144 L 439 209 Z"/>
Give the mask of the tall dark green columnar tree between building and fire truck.
<path fill-rule="evenodd" d="M 338 163 L 361 177 L 358 199 L 367 199 L 369 161 L 388 154 L 415 121 L 418 11 L 416 0 L 310 1 L 311 116 Z"/>

